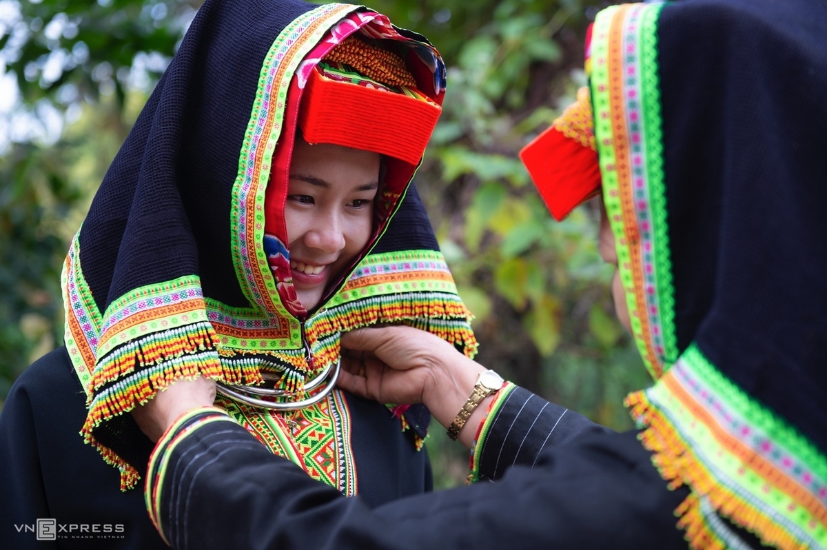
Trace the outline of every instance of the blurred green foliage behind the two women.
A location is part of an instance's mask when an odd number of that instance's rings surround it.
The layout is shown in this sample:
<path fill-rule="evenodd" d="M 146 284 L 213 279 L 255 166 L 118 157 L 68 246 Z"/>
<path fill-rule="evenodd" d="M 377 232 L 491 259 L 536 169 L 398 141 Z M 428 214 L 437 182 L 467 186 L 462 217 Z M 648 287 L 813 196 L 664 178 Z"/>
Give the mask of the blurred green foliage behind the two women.
<path fill-rule="evenodd" d="M 478 360 L 623 429 L 631 424 L 622 399 L 647 375 L 614 319 L 595 205 L 554 222 L 517 155 L 585 84 L 586 26 L 608 3 L 369 5 L 428 36 L 448 67 L 444 112 L 416 181 L 476 314 Z M 0 156 L 0 400 L 32 360 L 60 345 L 69 239 L 199 4 L 0 0 L 0 69 L 21 90 L 3 115 L 12 141 Z M 15 7 L 19 17 L 2 22 Z M 26 113 L 45 129 L 57 116 L 66 122 L 51 137 L 26 136 L 18 131 Z M 428 439 L 437 486 L 456 485 L 466 452 L 440 431 Z"/>

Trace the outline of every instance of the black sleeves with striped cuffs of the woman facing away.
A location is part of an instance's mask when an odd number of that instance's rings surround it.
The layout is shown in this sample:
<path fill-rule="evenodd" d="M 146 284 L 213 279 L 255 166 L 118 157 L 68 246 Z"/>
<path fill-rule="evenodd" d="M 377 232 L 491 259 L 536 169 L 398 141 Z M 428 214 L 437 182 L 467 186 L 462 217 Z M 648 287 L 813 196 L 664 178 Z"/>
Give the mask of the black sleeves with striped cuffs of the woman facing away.
<path fill-rule="evenodd" d="M 511 468 L 498 483 L 371 508 L 274 456 L 227 414 L 202 409 L 158 443 L 147 471 L 147 505 L 165 540 L 181 550 L 686 548 L 672 510 L 688 490 L 668 489 L 636 432 L 575 437 L 595 424 L 581 421 L 576 429 L 571 412 L 543 407 L 513 385 L 501 401 L 491 409 L 491 441 L 509 447 L 522 433 L 516 444 L 522 448 L 509 454 L 488 442 L 485 462 L 537 462 Z M 566 426 L 567 433 L 558 432 Z M 532 456 L 528 448 L 543 450 Z"/>

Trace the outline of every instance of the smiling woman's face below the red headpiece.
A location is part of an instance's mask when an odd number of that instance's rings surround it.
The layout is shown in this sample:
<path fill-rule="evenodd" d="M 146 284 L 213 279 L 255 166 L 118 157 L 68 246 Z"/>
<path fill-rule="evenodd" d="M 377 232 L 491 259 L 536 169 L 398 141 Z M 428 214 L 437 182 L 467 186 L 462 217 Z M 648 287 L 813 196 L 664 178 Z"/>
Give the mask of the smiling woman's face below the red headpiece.
<path fill-rule="evenodd" d="M 296 139 L 284 219 L 304 308 L 318 305 L 370 239 L 379 170 L 378 153 Z"/>

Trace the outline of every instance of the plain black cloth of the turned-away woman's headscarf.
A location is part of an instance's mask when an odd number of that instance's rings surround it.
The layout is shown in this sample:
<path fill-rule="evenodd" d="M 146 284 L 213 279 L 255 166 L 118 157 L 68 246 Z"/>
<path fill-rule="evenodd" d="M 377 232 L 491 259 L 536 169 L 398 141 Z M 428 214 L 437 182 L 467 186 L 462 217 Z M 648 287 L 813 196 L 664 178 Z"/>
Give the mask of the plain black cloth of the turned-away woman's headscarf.
<path fill-rule="evenodd" d="M 658 34 L 678 347 L 821 452 L 825 33 L 825 2 L 696 0 L 664 7 Z"/>

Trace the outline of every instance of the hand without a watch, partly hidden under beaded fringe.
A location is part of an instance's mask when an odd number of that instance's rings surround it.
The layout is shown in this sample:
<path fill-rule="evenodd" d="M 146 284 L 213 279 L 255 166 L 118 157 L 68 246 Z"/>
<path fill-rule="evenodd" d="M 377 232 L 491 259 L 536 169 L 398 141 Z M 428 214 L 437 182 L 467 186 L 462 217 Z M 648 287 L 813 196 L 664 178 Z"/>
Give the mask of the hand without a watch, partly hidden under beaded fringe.
<path fill-rule="evenodd" d="M 210 407 L 215 401 L 215 380 L 198 376 L 175 380 L 145 404 L 132 409 L 132 418 L 152 442 L 157 442 L 182 414 Z"/>

